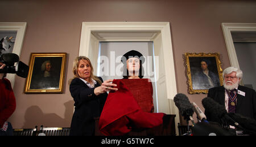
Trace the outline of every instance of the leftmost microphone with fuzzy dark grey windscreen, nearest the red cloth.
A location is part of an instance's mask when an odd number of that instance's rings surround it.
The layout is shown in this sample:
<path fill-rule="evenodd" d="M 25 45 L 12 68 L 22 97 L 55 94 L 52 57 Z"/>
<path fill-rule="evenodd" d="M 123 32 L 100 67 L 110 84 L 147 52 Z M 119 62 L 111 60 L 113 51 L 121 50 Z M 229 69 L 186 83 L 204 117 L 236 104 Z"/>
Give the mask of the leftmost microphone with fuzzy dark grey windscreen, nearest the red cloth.
<path fill-rule="evenodd" d="M 194 110 L 193 110 L 193 106 L 188 100 L 188 97 L 182 93 L 176 94 L 176 96 L 174 97 L 174 103 L 179 109 L 181 115 L 184 116 L 184 118 L 187 120 L 190 119 L 193 126 L 195 126 L 195 122 L 192 118 Z"/>

